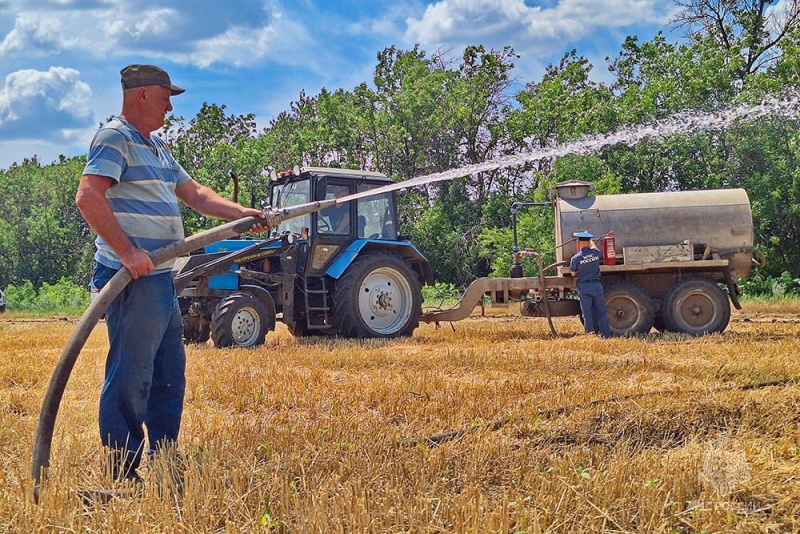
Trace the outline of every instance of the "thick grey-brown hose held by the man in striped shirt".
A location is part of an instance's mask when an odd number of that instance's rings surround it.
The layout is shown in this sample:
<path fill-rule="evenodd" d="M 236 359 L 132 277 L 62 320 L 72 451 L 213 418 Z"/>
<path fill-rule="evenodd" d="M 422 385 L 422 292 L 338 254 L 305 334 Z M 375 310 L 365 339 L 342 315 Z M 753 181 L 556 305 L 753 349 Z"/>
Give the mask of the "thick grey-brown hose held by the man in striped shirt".
<path fill-rule="evenodd" d="M 277 227 L 281 222 L 314 213 L 337 203 L 346 202 L 348 197 L 340 199 L 322 200 L 299 204 L 287 208 L 271 208 L 264 210 L 264 219 L 270 228 Z M 259 222 L 258 217 L 245 217 L 236 221 L 217 226 L 205 232 L 189 236 L 181 241 L 170 243 L 167 246 L 154 250 L 149 253 L 154 265 L 177 258 L 184 254 L 215 243 L 221 239 L 228 239 L 247 232 L 250 227 Z M 128 269 L 123 267 L 111 280 L 103 287 L 97 298 L 89 305 L 84 312 L 78 326 L 73 331 L 67 344 L 61 352 L 53 375 L 50 377 L 50 384 L 47 393 L 42 401 L 42 408 L 39 411 L 39 421 L 36 424 L 36 434 L 33 440 L 33 454 L 31 458 L 31 477 L 33 478 L 33 499 L 39 502 L 39 490 L 41 482 L 50 467 L 50 449 L 53 442 L 53 430 L 55 427 L 56 415 L 61 405 L 64 389 L 67 386 L 70 374 L 72 373 L 75 362 L 80 355 L 81 349 L 86 344 L 89 334 L 92 333 L 95 325 L 108 309 L 111 302 L 125 289 L 131 281 L 131 274 Z"/>

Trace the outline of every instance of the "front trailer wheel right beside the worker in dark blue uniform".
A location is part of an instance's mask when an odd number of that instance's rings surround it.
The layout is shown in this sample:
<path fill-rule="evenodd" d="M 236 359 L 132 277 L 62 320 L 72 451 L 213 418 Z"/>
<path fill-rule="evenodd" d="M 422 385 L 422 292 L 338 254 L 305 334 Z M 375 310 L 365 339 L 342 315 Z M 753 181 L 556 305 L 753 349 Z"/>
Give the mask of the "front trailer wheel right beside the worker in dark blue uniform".
<path fill-rule="evenodd" d="M 605 288 L 605 297 L 612 334 L 646 334 L 653 327 L 653 304 L 642 286 L 624 280 L 612 282 Z"/>

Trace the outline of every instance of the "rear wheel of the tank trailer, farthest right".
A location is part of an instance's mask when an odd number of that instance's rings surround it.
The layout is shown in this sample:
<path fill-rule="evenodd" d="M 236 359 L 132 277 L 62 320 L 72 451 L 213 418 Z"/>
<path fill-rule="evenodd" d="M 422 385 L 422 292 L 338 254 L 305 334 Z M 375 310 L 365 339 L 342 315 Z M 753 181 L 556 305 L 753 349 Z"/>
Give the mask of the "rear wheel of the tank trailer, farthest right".
<path fill-rule="evenodd" d="M 664 326 L 670 332 L 693 336 L 722 332 L 731 320 L 731 303 L 720 287 L 708 280 L 679 282 L 664 298 Z"/>

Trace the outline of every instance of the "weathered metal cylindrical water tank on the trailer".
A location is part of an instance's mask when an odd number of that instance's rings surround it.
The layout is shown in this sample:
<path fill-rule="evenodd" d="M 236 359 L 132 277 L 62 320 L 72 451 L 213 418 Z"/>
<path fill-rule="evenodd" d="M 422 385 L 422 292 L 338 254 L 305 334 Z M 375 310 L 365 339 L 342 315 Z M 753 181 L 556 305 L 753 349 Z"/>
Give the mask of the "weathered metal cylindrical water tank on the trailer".
<path fill-rule="evenodd" d="M 577 180 L 555 186 L 556 261 L 569 261 L 573 233 L 586 230 L 596 239 L 613 232 L 618 264 L 626 247 L 683 245 L 693 259 L 728 260 L 734 280 L 750 273 L 753 219 L 743 189 L 589 196 L 593 189 Z"/>

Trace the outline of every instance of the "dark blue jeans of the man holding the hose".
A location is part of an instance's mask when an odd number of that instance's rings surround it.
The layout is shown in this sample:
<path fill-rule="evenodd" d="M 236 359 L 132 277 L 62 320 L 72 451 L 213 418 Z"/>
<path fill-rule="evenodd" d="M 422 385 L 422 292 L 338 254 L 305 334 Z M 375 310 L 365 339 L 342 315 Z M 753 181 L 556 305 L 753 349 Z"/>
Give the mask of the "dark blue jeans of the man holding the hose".
<path fill-rule="evenodd" d="M 92 285 L 102 289 L 115 273 L 98 263 Z M 106 325 L 110 346 L 100 394 L 100 438 L 113 451 L 112 475 L 130 478 L 145 437 L 152 449 L 176 442 L 180 430 L 186 353 L 172 273 L 131 281 L 108 307 Z"/>

